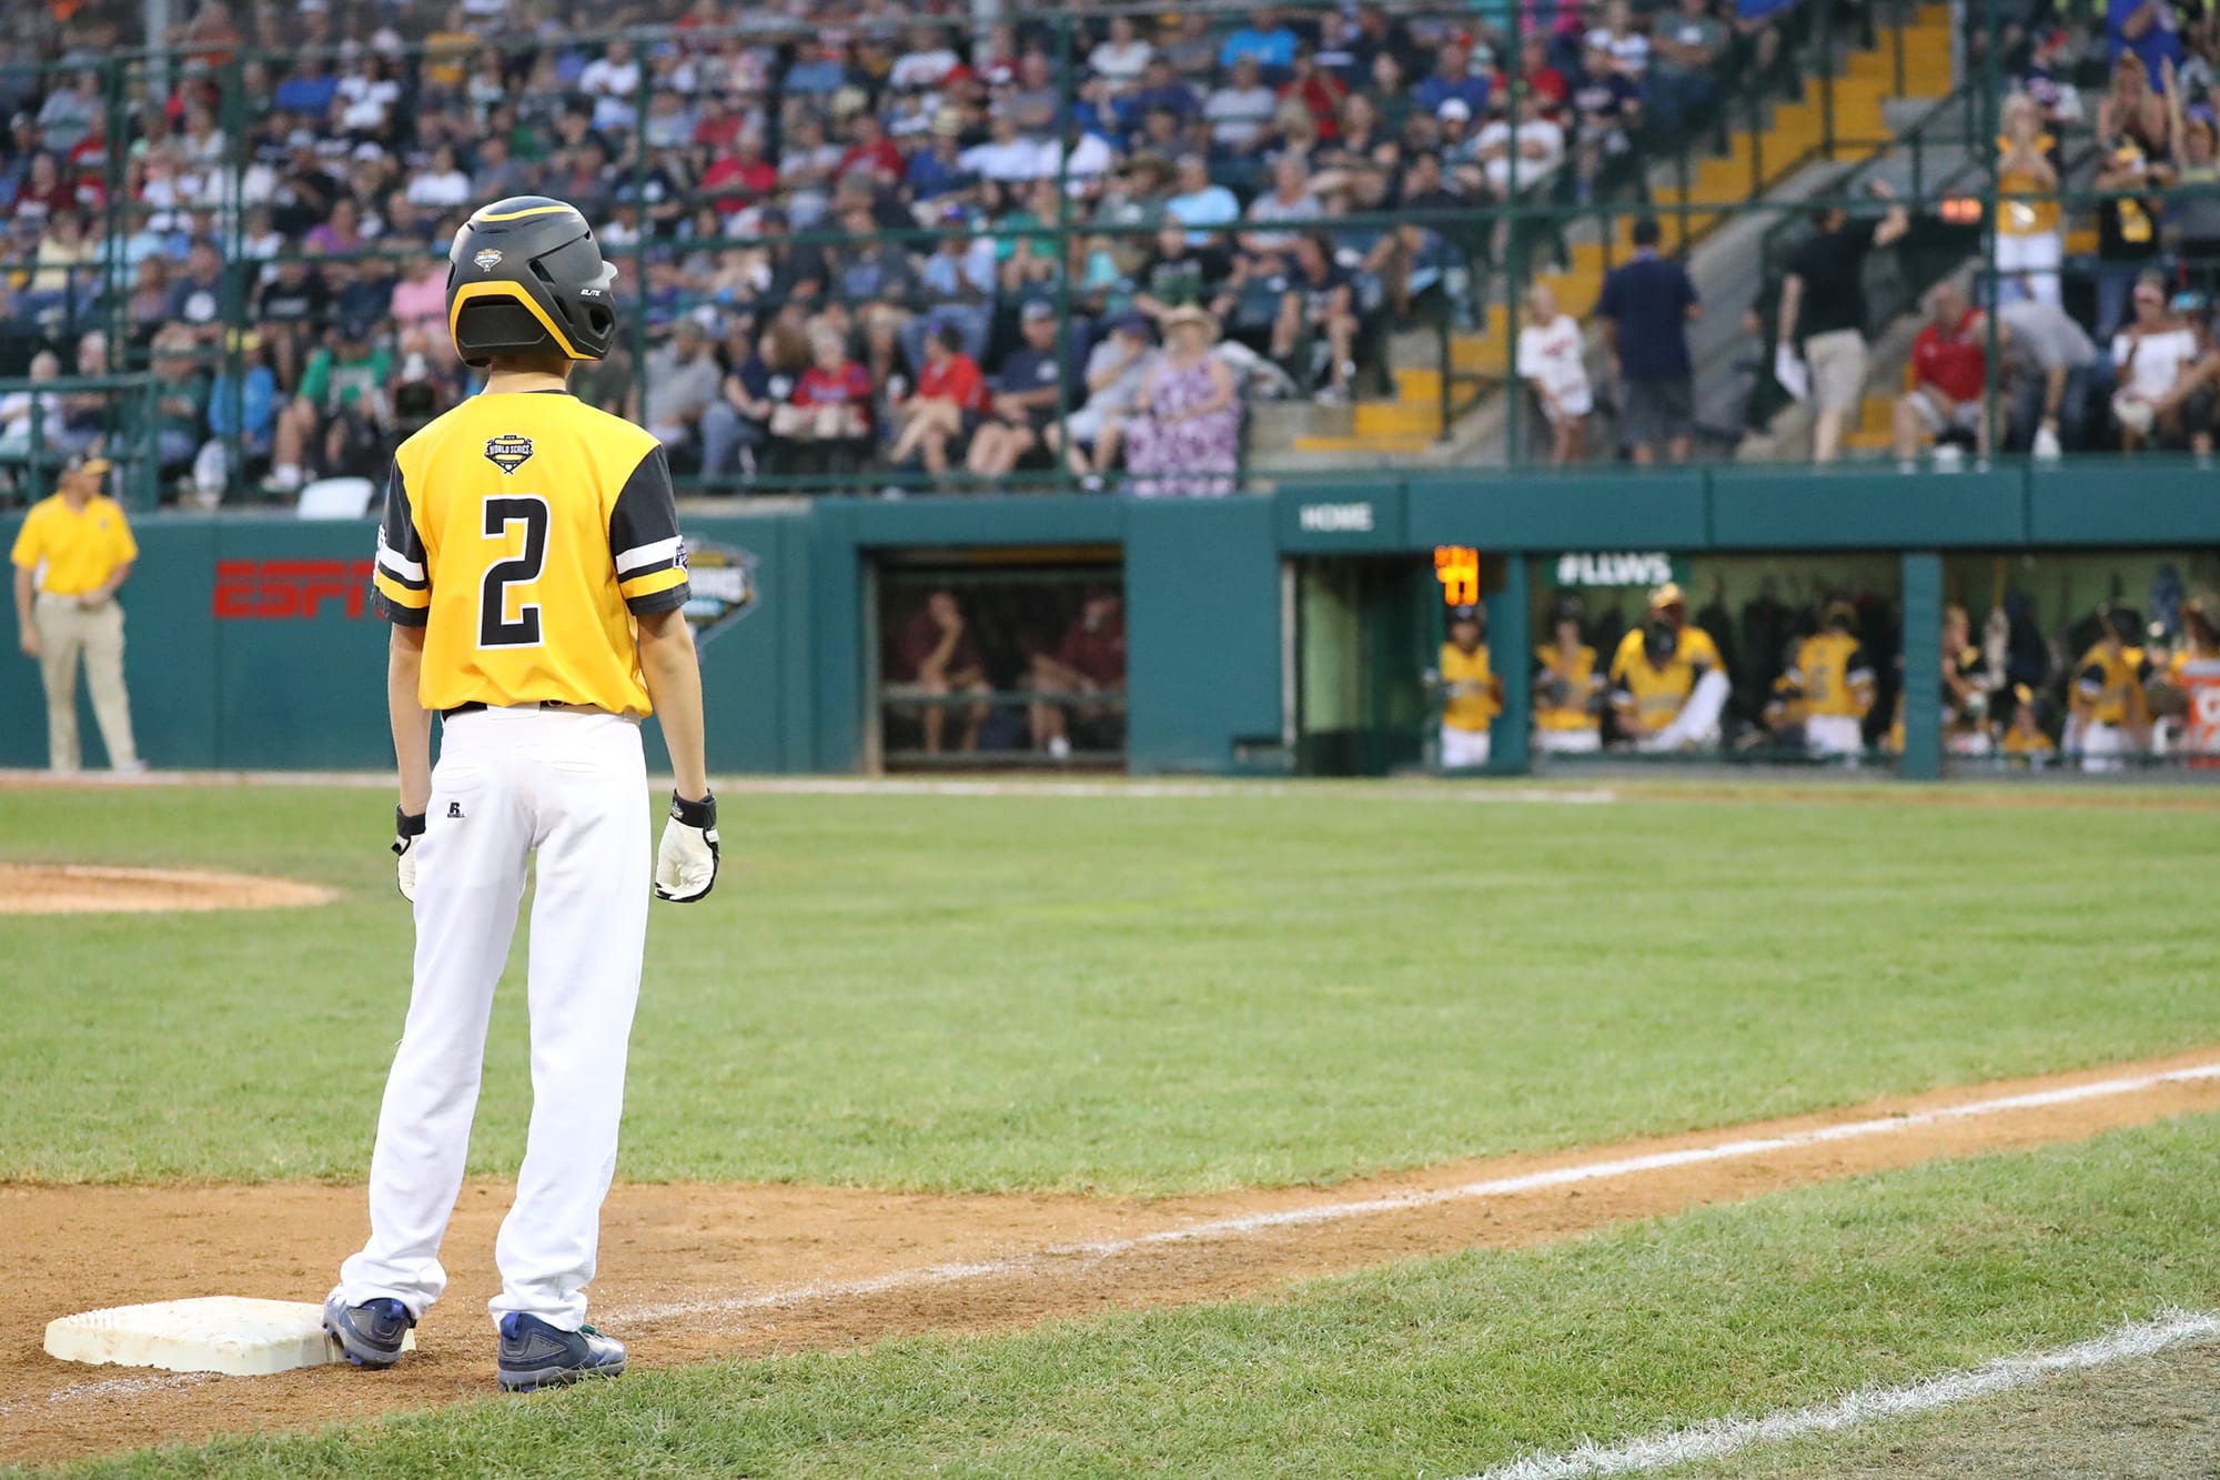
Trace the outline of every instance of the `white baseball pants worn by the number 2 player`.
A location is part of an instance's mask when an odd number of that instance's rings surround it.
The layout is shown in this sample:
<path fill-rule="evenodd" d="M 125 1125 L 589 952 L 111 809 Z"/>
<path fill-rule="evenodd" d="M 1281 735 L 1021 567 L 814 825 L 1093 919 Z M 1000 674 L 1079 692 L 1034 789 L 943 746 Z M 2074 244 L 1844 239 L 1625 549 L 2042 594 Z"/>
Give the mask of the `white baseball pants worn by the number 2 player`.
<path fill-rule="evenodd" d="M 586 1320 L 602 1198 L 617 1169 L 624 1051 L 648 933 L 639 727 L 597 713 L 486 709 L 446 722 L 417 840 L 415 987 L 393 1056 L 371 1240 L 340 1267 L 346 1304 L 422 1316 L 446 1289 L 440 1240 L 462 1193 L 493 987 L 537 849 L 526 1000 L 533 1122 L 495 1258 L 508 1311 Z"/>

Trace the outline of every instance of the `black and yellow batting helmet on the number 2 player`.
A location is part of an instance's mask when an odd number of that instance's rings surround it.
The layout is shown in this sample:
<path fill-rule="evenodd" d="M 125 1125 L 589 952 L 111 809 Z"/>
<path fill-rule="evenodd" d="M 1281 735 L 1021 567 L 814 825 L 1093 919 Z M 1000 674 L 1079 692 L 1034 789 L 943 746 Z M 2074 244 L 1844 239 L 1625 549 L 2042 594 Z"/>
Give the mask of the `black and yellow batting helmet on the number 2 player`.
<path fill-rule="evenodd" d="M 599 360 L 617 342 L 617 269 L 573 204 L 495 200 L 462 224 L 446 260 L 446 329 L 464 364 L 533 353 Z"/>

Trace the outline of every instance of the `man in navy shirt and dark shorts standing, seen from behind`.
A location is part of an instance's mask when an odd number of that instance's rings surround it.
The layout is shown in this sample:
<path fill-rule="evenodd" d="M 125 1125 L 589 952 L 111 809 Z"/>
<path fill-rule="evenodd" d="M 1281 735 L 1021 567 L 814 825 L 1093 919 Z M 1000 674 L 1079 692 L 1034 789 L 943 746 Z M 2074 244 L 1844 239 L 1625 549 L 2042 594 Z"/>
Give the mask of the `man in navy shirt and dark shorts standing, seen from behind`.
<path fill-rule="evenodd" d="M 1696 433 L 1687 324 L 1703 316 L 1703 300 L 1687 269 L 1658 253 L 1658 238 L 1656 218 L 1634 222 L 1634 260 L 1614 267 L 1596 298 L 1618 380 L 1618 438 L 1638 464 L 1658 451 L 1687 462 Z"/>

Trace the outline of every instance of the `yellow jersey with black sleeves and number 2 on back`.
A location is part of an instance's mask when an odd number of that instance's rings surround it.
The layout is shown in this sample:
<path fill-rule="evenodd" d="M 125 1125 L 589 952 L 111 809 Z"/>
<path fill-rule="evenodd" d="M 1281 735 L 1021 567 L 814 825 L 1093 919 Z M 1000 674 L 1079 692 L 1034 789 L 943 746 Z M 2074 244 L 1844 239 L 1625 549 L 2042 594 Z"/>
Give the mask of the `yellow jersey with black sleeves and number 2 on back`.
<path fill-rule="evenodd" d="M 664 449 L 564 391 L 473 396 L 393 453 L 373 584 L 426 629 L 426 709 L 648 713 L 633 616 L 693 596 Z"/>

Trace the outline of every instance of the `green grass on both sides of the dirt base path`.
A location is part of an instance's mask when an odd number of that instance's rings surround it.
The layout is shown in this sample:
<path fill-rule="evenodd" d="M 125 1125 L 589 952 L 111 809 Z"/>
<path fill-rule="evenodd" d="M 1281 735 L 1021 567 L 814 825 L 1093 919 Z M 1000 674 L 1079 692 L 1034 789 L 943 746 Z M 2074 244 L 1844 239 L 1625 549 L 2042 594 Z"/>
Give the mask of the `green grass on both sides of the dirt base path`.
<path fill-rule="evenodd" d="M 2182 796 L 735 798 L 726 882 L 653 916 L 619 1176 L 1328 1182 L 2202 1047 L 2216 816 Z M 377 791 L 0 791 L 0 858 L 346 891 L 0 916 L 0 1180 L 360 1180 L 408 978 L 386 820 Z M 484 1173 L 522 1149 L 519 998 Z M 2211 1307 L 2216 1229 L 2220 1124 L 2187 1120 L 1265 1302 L 89 1473 L 1454 1476 Z"/>

